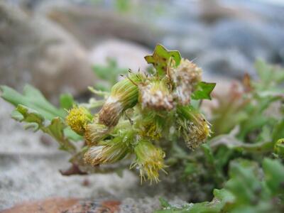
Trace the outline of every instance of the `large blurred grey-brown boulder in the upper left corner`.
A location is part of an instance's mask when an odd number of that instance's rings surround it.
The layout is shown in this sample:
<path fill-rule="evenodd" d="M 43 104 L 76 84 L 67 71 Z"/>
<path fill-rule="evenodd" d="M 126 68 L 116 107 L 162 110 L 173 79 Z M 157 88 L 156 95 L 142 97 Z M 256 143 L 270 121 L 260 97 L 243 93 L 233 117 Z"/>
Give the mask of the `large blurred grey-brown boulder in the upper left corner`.
<path fill-rule="evenodd" d="M 94 83 L 87 53 L 55 23 L 0 3 L 0 84 L 30 83 L 49 97 L 79 94 Z"/>

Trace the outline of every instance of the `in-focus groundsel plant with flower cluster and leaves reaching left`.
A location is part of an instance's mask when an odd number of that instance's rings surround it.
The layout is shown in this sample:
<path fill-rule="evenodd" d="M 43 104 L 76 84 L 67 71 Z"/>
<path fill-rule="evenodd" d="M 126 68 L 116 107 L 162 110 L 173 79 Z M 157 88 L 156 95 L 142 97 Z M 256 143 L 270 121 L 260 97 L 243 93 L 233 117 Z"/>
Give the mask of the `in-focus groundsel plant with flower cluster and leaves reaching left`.
<path fill-rule="evenodd" d="M 145 59 L 153 64 L 151 73 L 129 70 L 109 93 L 91 88 L 103 102 L 92 98 L 78 104 L 65 94 L 57 109 L 31 86 L 23 95 L 2 86 L 1 96 L 16 106 L 14 119 L 53 136 L 82 173 L 128 166 L 138 170 L 141 181 L 158 182 L 173 143 L 182 140 L 194 150 L 210 136 L 209 122 L 192 103 L 211 99 L 215 84 L 202 82 L 200 67 L 162 45 Z"/>

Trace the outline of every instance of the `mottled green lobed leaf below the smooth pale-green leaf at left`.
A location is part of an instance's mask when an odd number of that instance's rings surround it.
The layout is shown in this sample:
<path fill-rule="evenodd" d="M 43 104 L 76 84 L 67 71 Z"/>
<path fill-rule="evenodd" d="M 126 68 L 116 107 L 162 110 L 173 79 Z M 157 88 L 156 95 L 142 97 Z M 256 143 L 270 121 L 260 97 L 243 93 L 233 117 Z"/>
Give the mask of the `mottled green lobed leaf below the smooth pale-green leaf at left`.
<path fill-rule="evenodd" d="M 60 143 L 61 149 L 70 152 L 75 151 L 75 146 L 73 146 L 72 143 L 70 143 L 70 141 L 68 141 L 68 139 L 64 136 L 63 131 L 66 126 L 60 117 L 55 117 L 49 121 L 37 111 L 21 104 L 16 107 L 13 114 L 17 114 L 17 116 L 13 116 L 13 118 L 17 121 L 24 121 L 26 123 L 33 124 L 34 131 L 38 131 L 40 129 L 44 133 L 48 133 L 50 136 L 55 138 L 55 140 Z"/>

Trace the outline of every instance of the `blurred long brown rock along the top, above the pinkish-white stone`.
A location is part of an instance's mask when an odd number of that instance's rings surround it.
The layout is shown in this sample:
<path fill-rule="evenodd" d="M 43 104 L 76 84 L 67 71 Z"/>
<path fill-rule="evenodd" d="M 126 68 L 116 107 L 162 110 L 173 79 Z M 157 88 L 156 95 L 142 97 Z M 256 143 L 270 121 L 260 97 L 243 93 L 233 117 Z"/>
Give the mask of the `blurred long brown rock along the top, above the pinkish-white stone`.
<path fill-rule="evenodd" d="M 45 13 L 48 18 L 75 35 L 86 48 L 106 38 L 120 38 L 143 45 L 155 45 L 158 41 L 158 31 L 139 18 L 96 9 L 94 5 L 78 6 L 53 1 L 39 6 L 37 13 Z"/>

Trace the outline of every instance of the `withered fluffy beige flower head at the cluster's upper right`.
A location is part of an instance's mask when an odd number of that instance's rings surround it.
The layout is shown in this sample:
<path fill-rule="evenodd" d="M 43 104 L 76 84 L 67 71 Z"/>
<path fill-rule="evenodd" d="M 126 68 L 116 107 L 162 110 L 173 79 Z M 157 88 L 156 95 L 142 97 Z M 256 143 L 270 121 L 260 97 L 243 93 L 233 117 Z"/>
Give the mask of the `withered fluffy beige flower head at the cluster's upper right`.
<path fill-rule="evenodd" d="M 175 98 L 182 106 L 190 104 L 190 97 L 201 81 L 202 70 L 187 59 L 182 59 L 178 67 L 170 66 L 169 75 L 175 85 Z"/>

